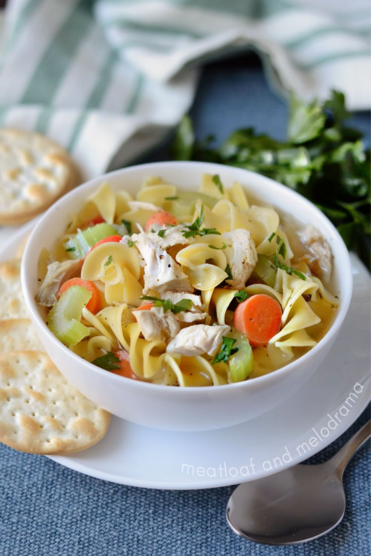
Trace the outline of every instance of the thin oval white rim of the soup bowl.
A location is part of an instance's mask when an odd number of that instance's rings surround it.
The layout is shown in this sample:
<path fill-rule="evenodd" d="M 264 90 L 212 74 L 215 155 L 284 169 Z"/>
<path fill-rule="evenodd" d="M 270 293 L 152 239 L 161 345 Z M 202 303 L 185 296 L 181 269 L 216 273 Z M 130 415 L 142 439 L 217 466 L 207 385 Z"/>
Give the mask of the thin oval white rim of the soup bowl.
<path fill-rule="evenodd" d="M 50 217 L 52 216 L 53 211 L 55 211 L 56 208 L 64 207 L 66 204 L 70 203 L 70 200 L 72 200 L 76 196 L 79 196 L 80 194 L 82 196 L 85 190 L 98 187 L 100 182 L 110 181 L 111 177 L 113 178 L 121 175 L 125 176 L 126 174 L 130 174 L 131 172 L 136 173 L 136 172 L 142 172 L 146 170 L 151 171 L 151 170 L 155 170 L 156 168 L 163 168 L 165 170 L 166 168 L 173 168 L 173 167 L 176 168 L 181 166 L 187 166 L 189 168 L 195 168 L 195 169 L 198 168 L 200 172 L 200 177 L 203 173 L 211 173 L 212 170 L 214 170 L 214 173 L 218 173 L 218 171 L 220 173 L 221 171 L 223 171 L 223 172 L 232 172 L 233 174 L 236 175 L 240 174 L 241 178 L 245 177 L 246 183 L 243 183 L 245 190 L 249 189 L 249 178 L 251 178 L 251 180 L 260 181 L 261 184 L 266 184 L 269 187 L 278 188 L 278 191 L 283 193 L 285 196 L 293 196 L 294 198 L 296 198 L 298 202 L 302 203 L 304 207 L 307 206 L 308 209 L 316 212 L 319 219 L 322 220 L 324 224 L 326 224 L 329 230 L 332 232 L 332 235 L 334 236 L 334 239 L 337 242 L 338 249 L 340 250 L 341 255 L 344 257 L 344 262 L 346 261 L 346 264 L 344 264 L 344 267 L 342 267 L 342 274 L 345 275 L 344 283 L 348 281 L 349 287 L 345 289 L 344 292 L 342 292 L 342 299 L 340 299 L 340 305 L 335 314 L 332 325 L 325 333 L 325 335 L 318 341 L 318 343 L 315 346 L 311 347 L 309 351 L 307 351 L 304 355 L 301 355 L 298 359 L 289 362 L 288 364 L 280 367 L 279 369 L 276 369 L 275 371 L 272 371 L 271 373 L 266 373 L 264 375 L 257 376 L 254 379 L 250 379 L 250 380 L 246 379 L 238 383 L 221 384 L 218 385 L 217 388 L 214 385 L 202 386 L 202 387 L 186 386 L 184 388 L 169 388 L 169 385 L 153 384 L 142 380 L 132 380 L 125 376 L 116 375 L 115 373 L 110 373 L 111 376 L 110 380 L 112 380 L 113 383 L 117 382 L 117 384 L 130 384 L 131 388 L 138 388 L 144 390 L 149 389 L 150 391 L 158 391 L 158 392 L 162 391 L 162 393 L 168 392 L 169 395 L 171 396 L 174 395 L 190 396 L 191 394 L 192 396 L 194 396 L 195 392 L 199 392 L 199 395 L 201 395 L 201 393 L 202 395 L 204 395 L 208 391 L 209 392 L 217 391 L 222 393 L 225 389 L 227 389 L 227 391 L 232 391 L 236 389 L 253 390 L 254 385 L 258 387 L 258 385 L 269 383 L 273 380 L 280 380 L 280 378 L 283 377 L 284 375 L 289 375 L 291 372 L 293 372 L 293 370 L 297 368 L 298 365 L 302 363 L 305 364 L 308 359 L 311 359 L 313 354 L 315 355 L 318 351 L 321 351 L 323 349 L 325 342 L 331 341 L 333 337 L 338 333 L 340 327 L 342 326 L 343 320 L 348 312 L 350 300 L 352 297 L 352 290 L 353 290 L 352 263 L 350 261 L 348 249 L 345 246 L 344 241 L 340 236 L 338 230 L 328 219 L 328 217 L 325 216 L 323 212 L 321 212 L 318 209 L 318 207 L 314 205 L 314 203 L 306 199 L 303 195 L 300 195 L 300 193 L 292 190 L 288 186 L 285 186 L 257 172 L 253 172 L 251 170 L 245 170 L 244 168 L 226 166 L 214 162 L 199 162 L 199 161 L 148 162 L 144 164 L 126 166 L 124 168 L 119 168 L 118 170 L 107 172 L 105 174 L 102 174 L 101 176 L 97 176 L 86 182 L 83 182 L 81 185 L 67 192 L 65 195 L 60 197 L 60 199 L 58 199 L 55 203 L 53 203 L 53 205 L 51 205 L 51 207 L 49 207 L 47 211 L 45 211 L 40 217 L 38 217 L 36 224 L 32 229 L 30 236 L 28 237 L 26 246 L 24 247 L 24 252 L 23 252 L 22 262 L 21 262 L 21 286 L 22 286 L 23 296 L 26 301 L 28 311 L 31 313 L 31 317 L 34 320 L 36 320 L 38 325 L 41 325 L 43 333 L 47 334 L 49 339 L 56 345 L 57 349 L 65 352 L 67 357 L 71 357 L 73 360 L 76 361 L 76 364 L 80 364 L 83 366 L 87 365 L 87 367 L 91 371 L 97 373 L 98 375 L 101 375 L 102 378 L 107 378 L 107 371 L 105 369 L 101 369 L 100 367 L 93 365 L 89 361 L 81 358 L 79 355 L 75 354 L 67 346 L 65 346 L 60 340 L 58 340 L 56 336 L 54 336 L 52 332 L 48 329 L 46 323 L 42 319 L 42 316 L 39 314 L 36 301 L 34 300 L 33 295 L 31 295 L 30 292 L 31 288 L 28 286 L 28 272 L 27 272 L 28 267 L 32 265 L 32 259 L 34 260 L 34 256 L 32 255 L 32 252 L 34 251 L 34 245 L 33 245 L 34 238 L 37 237 L 39 230 L 41 230 L 44 226 L 46 226 L 46 223 L 50 220 Z M 232 179 L 234 181 L 237 181 L 238 177 L 233 176 Z M 254 187 L 256 187 L 256 184 Z M 116 186 L 114 186 L 114 188 L 116 189 Z M 125 185 L 123 185 L 122 188 L 125 189 Z M 255 192 L 254 192 L 254 196 L 256 197 Z M 83 197 L 81 198 L 81 203 L 82 202 L 83 202 Z M 264 203 L 265 201 L 262 202 Z M 272 203 L 272 206 L 274 207 L 274 202 Z M 290 213 L 288 212 L 288 214 Z M 122 382 L 122 380 L 124 382 Z M 177 391 L 177 394 L 174 394 L 174 390 Z M 185 392 L 189 392 L 191 394 L 184 394 Z"/>

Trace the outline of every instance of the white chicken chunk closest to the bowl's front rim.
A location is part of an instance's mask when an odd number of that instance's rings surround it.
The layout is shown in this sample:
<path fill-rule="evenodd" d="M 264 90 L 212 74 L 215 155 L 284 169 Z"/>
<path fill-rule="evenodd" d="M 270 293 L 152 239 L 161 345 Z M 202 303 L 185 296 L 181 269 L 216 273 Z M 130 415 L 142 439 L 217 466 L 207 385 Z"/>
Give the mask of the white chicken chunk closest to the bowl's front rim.
<path fill-rule="evenodd" d="M 166 347 L 166 351 L 192 357 L 207 353 L 215 355 L 221 338 L 231 331 L 227 325 L 194 324 L 178 332 Z"/>

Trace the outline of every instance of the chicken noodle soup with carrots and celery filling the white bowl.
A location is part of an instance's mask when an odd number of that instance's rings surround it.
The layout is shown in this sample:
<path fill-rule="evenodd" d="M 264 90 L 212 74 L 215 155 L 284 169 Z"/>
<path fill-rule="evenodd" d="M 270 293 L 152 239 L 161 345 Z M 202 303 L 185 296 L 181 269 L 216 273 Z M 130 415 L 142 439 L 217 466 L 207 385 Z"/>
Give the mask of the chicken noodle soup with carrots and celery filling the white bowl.
<path fill-rule="evenodd" d="M 39 261 L 37 301 L 72 351 L 172 386 L 251 380 L 323 337 L 339 300 L 332 255 L 248 192 L 204 175 L 197 191 L 150 178 L 132 198 L 104 182 Z"/>

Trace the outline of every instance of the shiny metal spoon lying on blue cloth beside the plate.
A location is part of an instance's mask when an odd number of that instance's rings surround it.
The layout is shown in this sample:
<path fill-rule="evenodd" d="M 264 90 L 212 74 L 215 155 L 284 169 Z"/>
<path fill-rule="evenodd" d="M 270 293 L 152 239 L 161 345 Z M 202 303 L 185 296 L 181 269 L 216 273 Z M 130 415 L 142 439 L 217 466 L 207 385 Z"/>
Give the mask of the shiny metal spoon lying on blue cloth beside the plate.
<path fill-rule="evenodd" d="M 343 473 L 371 436 L 368 421 L 337 454 L 318 465 L 294 465 L 240 484 L 231 494 L 226 518 L 235 533 L 264 544 L 297 544 L 334 529 L 343 519 Z"/>

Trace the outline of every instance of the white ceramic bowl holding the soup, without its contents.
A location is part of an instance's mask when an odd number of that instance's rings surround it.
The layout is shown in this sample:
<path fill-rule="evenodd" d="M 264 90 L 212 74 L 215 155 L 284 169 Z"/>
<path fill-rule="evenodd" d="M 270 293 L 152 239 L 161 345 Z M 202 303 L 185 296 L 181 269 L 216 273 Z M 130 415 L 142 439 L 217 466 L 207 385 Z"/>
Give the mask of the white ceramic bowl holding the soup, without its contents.
<path fill-rule="evenodd" d="M 102 180 L 113 189 L 136 193 L 144 178 L 161 176 L 181 188 L 196 190 L 203 173 L 219 174 L 230 186 L 239 181 L 262 205 L 289 212 L 303 224 L 315 226 L 334 255 L 333 288 L 340 306 L 330 330 L 308 353 L 293 363 L 242 383 L 223 386 L 175 388 L 147 384 L 109 373 L 68 350 L 48 330 L 34 296 L 38 290 L 37 261 L 43 247 L 51 249 L 66 229 L 71 214 L 78 211 Z M 37 334 L 51 359 L 83 394 L 112 414 L 133 423 L 159 429 L 196 431 L 243 423 L 283 403 L 302 386 L 331 349 L 345 319 L 352 295 L 352 268 L 342 239 L 331 222 L 316 207 L 288 187 L 253 172 L 203 162 L 156 162 L 108 173 L 71 191 L 44 214 L 32 231 L 22 261 L 22 289 Z M 294 418 L 295 416 L 293 416 Z"/>

